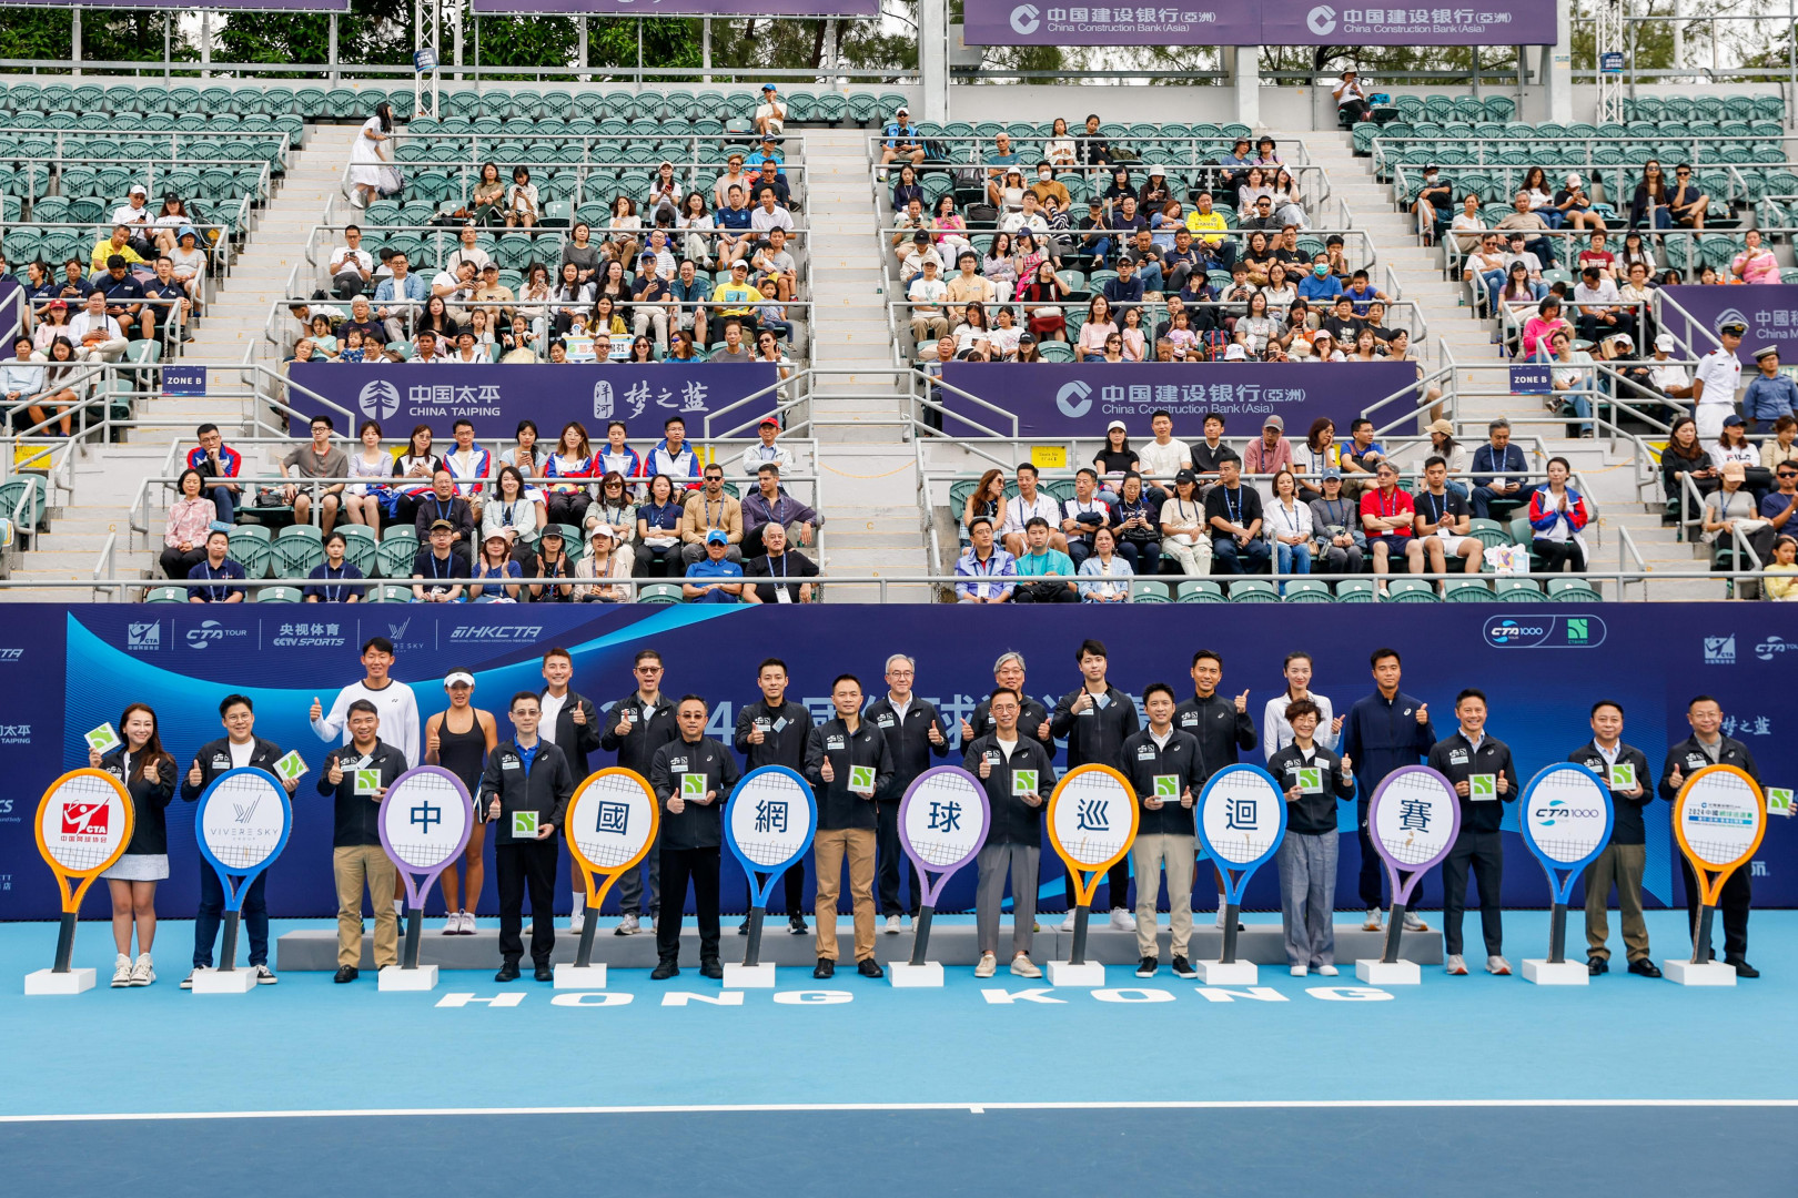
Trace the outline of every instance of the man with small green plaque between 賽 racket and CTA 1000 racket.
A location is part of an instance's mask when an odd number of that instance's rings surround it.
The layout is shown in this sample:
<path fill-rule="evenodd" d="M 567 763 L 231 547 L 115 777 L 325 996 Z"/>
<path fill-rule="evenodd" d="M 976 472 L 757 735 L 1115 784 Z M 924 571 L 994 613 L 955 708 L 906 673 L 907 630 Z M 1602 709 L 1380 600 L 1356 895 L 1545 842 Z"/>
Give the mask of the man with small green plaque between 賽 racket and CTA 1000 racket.
<path fill-rule="evenodd" d="M 1510 763 L 1510 745 L 1485 735 L 1485 691 L 1467 688 L 1455 697 L 1460 729 L 1429 749 L 1429 769 L 1437 771 L 1460 796 L 1462 826 L 1455 848 L 1442 862 L 1442 939 L 1455 977 L 1467 973 L 1462 957 L 1460 923 L 1467 911 L 1467 869 L 1480 887 L 1480 932 L 1485 938 L 1485 972 L 1510 973 L 1505 961 L 1505 927 L 1500 912 L 1498 884 L 1505 876 L 1505 841 L 1500 824 L 1505 803 L 1518 797 L 1518 769 Z"/>

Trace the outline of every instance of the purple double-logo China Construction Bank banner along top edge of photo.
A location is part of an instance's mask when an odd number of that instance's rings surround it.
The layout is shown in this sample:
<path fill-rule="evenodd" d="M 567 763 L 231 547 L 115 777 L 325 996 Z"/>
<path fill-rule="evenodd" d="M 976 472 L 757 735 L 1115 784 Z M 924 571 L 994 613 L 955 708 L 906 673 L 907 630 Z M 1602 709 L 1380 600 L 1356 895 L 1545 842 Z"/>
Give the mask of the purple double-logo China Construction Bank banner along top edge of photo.
<path fill-rule="evenodd" d="M 1311 0 L 1158 5 L 967 0 L 967 45 L 1550 45 L 1553 0 L 1347 7 Z"/>

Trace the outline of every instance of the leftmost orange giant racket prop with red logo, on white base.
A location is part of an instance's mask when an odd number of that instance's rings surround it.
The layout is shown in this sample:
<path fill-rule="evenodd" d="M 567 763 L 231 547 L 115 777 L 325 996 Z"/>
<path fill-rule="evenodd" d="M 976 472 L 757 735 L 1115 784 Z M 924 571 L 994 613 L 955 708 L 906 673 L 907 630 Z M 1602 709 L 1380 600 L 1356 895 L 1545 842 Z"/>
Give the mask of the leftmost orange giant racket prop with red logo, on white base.
<path fill-rule="evenodd" d="M 135 821 L 131 796 L 104 771 L 70 771 L 43 792 L 38 803 L 38 851 L 56 875 L 63 925 L 56 934 L 56 965 L 25 975 L 25 993 L 81 993 L 93 986 L 93 970 L 72 970 L 68 965 L 76 952 L 76 920 L 93 878 L 124 857 Z"/>

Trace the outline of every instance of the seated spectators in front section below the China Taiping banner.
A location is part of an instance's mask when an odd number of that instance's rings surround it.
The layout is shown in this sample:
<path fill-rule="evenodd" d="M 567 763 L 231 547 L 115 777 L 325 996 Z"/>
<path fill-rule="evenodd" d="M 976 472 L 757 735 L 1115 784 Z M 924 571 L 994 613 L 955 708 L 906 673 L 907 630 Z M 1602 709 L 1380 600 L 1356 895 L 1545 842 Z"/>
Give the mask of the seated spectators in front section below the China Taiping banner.
<path fill-rule="evenodd" d="M 572 420 L 547 447 L 536 422 L 521 420 L 512 445 L 494 454 L 475 442 L 473 424 L 457 420 L 453 444 L 439 453 L 430 426 L 396 451 L 383 445 L 379 422 L 363 420 L 358 447 L 345 451 L 320 415 L 311 440 L 280 458 L 279 480 L 259 483 L 207 424 L 176 483 L 162 573 L 209 584 L 192 587 L 189 602 L 243 602 L 234 519 L 306 526 L 316 515 L 324 537 L 306 602 L 367 598 L 356 584 L 369 573 L 349 560 L 352 544 L 372 551 L 396 535 L 415 551 L 415 602 L 629 602 L 628 578 L 669 580 L 689 602 L 813 602 L 823 517 L 782 487 L 793 456 L 779 444 L 779 422 L 762 420 L 757 444 L 734 463 L 748 485 L 741 498 L 735 483 L 726 487 L 725 465 L 685 431 L 669 417 L 663 436 L 638 451 L 622 420 L 606 426 L 599 445 Z M 352 541 L 349 526 L 367 532 Z"/>

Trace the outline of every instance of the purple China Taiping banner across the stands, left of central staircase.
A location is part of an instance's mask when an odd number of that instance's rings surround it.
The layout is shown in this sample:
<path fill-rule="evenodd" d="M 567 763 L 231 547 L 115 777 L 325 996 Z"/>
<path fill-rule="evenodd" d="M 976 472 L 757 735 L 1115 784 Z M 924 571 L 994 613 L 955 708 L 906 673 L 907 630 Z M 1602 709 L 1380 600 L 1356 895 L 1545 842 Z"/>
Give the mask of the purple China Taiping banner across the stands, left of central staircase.
<path fill-rule="evenodd" d="M 297 384 L 288 393 L 288 402 L 298 413 L 289 422 L 295 436 L 306 436 L 307 420 L 320 411 L 342 424 L 340 411 L 318 402 L 316 397 L 324 397 L 352 411 L 354 422 L 379 420 L 387 429 L 430 424 L 444 435 L 455 420 L 466 418 L 473 420 L 475 436 L 511 438 L 518 422 L 529 417 L 545 429 L 545 440 L 554 440 L 554 429 L 568 420 L 581 420 L 595 442 L 604 440 L 606 420 L 629 420 L 633 433 L 644 436 L 660 429 L 669 417 L 683 417 L 689 436 L 698 440 L 707 413 L 730 408 L 748 395 L 768 392 L 762 399 L 773 410 L 779 397 L 768 388 L 780 381 L 775 366 L 764 363 L 435 368 L 412 363 L 297 363 L 289 366 L 288 377 Z M 739 418 L 753 422 L 761 413 L 762 408 L 735 410 L 732 424 Z M 340 427 L 338 433 L 354 429 Z M 396 435 L 405 436 L 403 431 Z"/>

